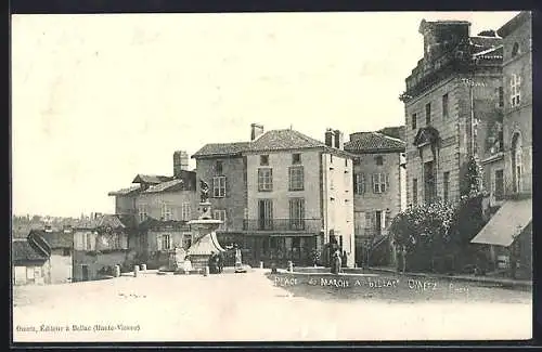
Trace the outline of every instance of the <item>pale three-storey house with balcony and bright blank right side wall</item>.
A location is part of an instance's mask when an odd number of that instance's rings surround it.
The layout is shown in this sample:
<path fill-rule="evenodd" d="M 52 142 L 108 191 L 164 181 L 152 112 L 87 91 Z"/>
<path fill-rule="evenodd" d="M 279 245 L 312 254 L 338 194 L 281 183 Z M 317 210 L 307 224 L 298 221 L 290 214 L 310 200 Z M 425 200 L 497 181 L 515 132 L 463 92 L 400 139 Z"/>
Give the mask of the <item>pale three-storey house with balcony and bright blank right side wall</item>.
<path fill-rule="evenodd" d="M 311 263 L 311 251 L 336 244 L 354 264 L 352 155 L 343 133 L 325 143 L 295 130 L 271 130 L 246 157 L 245 243 L 253 261 Z"/>

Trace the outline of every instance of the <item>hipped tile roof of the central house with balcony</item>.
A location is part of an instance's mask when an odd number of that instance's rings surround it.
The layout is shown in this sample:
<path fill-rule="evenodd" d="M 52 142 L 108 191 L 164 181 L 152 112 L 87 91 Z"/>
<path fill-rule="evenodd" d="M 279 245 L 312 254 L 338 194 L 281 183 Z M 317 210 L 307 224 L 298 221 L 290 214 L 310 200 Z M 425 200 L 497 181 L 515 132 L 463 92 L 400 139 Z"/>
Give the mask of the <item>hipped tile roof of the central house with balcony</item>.
<path fill-rule="evenodd" d="M 259 139 L 250 143 L 248 151 L 267 152 L 325 147 L 323 142 L 314 140 L 296 130 L 271 130 L 263 133 Z"/>

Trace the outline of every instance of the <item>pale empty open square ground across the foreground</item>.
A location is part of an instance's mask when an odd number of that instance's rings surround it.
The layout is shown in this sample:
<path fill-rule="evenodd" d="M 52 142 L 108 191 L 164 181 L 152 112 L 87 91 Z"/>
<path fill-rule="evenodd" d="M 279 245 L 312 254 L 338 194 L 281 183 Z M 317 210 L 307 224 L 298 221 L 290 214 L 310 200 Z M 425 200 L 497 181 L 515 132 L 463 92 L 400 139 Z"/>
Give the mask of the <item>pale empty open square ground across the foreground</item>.
<path fill-rule="evenodd" d="M 456 286 L 451 291 L 443 281 L 437 283 L 442 288 L 430 295 L 409 288 L 409 283 L 397 289 L 366 288 L 361 294 L 301 285 L 285 289 L 274 286 L 266 277 L 267 272 L 209 277 L 147 273 L 101 282 L 15 287 L 14 341 L 440 340 L 531 336 L 531 294 L 526 291 L 474 284 Z M 101 325 L 99 330 L 96 324 Z M 74 331 L 74 325 L 78 330 Z"/>

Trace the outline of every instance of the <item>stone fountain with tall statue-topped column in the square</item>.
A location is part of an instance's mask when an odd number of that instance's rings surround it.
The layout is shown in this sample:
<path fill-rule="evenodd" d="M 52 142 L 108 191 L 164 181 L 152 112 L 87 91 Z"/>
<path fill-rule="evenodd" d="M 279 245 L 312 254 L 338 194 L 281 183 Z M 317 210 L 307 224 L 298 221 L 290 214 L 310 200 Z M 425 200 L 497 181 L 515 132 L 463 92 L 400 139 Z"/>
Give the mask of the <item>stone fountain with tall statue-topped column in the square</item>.
<path fill-rule="evenodd" d="M 208 200 L 209 186 L 203 180 L 201 182 L 202 199 L 197 208 L 199 217 L 189 221 L 192 232 L 192 246 L 188 249 L 188 255 L 195 270 L 205 270 L 211 252 L 220 253 L 225 251 L 217 239 L 217 229 L 222 224 L 221 220 L 212 219 L 211 204 Z"/>

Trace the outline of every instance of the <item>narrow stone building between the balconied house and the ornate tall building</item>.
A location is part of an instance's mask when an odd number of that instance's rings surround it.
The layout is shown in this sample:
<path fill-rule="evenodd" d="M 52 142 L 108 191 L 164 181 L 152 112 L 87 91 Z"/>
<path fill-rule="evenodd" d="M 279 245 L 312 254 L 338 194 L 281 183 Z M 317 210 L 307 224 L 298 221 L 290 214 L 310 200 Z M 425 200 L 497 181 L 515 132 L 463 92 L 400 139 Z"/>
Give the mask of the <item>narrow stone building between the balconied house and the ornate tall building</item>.
<path fill-rule="evenodd" d="M 356 259 L 395 265 L 392 242 L 387 236 L 391 219 L 406 208 L 404 142 L 379 132 L 350 134 L 345 151 L 353 159 L 353 222 Z M 380 249 L 382 250 L 377 250 Z"/>

